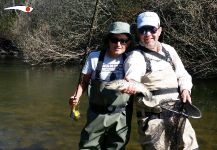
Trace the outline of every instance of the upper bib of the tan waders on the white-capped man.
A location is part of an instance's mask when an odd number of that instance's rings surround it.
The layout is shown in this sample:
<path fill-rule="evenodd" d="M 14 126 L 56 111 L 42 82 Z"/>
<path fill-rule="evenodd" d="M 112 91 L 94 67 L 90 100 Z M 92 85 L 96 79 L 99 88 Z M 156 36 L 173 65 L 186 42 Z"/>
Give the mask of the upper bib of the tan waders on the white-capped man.
<path fill-rule="evenodd" d="M 177 99 L 179 96 L 178 82 L 174 71 L 175 67 L 169 52 L 164 47 L 162 47 L 162 51 L 165 56 L 142 46 L 138 46 L 137 49 L 140 49 L 139 52 L 142 53 L 146 62 L 146 75 L 141 78 L 141 82 L 148 87 L 153 95 L 151 100 L 139 97 L 140 100 L 138 102 L 143 105 L 142 107 L 146 108 L 146 111 L 158 113 L 161 110 L 155 106 L 161 100 Z M 160 61 L 157 61 L 157 63 L 163 64 L 165 68 L 152 71 L 151 61 L 146 54 L 159 58 Z"/>

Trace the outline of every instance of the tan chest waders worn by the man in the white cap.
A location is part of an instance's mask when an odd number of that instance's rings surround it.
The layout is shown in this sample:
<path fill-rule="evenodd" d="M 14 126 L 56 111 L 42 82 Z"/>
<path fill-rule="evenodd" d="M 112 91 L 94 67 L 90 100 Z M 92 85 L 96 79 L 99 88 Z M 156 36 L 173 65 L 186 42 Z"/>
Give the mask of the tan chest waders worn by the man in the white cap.
<path fill-rule="evenodd" d="M 175 126 L 170 126 L 171 122 L 168 118 L 171 118 L 174 114 L 171 115 L 168 112 L 164 112 L 157 106 L 161 100 L 177 99 L 179 97 L 175 67 L 169 52 L 162 48 L 165 54 L 163 56 L 144 47 L 140 47 L 140 50 L 142 50 L 140 52 L 146 61 L 146 75 L 142 77 L 141 81 L 153 94 L 151 100 L 145 98 L 138 100 L 140 103 L 137 105 L 137 118 L 139 142 L 142 148 L 144 150 L 170 150 L 177 149 L 181 143 L 185 147 L 182 148 L 184 150 L 197 148 L 195 132 L 188 119 L 181 118 L 177 124 L 174 124 Z M 146 53 L 160 58 L 162 61 L 159 61 L 159 63 L 164 63 L 166 67 L 163 70 L 152 71 L 151 61 L 147 58 Z M 180 124 L 182 126 L 180 127 L 181 130 L 177 132 L 178 128 L 176 125 Z M 179 139 L 176 140 L 176 137 Z"/>

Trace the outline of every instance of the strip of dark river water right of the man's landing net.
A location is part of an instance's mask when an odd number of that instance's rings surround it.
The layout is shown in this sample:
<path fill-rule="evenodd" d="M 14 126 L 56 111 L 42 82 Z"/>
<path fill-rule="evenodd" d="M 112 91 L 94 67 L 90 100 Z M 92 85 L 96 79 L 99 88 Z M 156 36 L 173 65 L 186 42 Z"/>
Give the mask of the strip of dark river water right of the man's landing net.
<path fill-rule="evenodd" d="M 203 117 L 192 120 L 201 149 L 217 149 L 217 85 L 215 80 L 194 81 L 194 103 L 199 106 Z"/>

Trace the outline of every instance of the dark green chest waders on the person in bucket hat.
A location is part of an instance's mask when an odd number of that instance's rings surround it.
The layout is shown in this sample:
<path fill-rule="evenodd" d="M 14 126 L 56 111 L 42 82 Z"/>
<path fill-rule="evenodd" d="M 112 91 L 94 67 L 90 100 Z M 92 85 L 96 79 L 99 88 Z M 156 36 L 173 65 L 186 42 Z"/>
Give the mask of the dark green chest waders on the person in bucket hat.
<path fill-rule="evenodd" d="M 100 80 L 104 56 L 105 51 L 101 51 L 95 79 L 88 89 L 89 109 L 80 150 L 124 150 L 129 141 L 132 100 L 128 94 L 104 89 L 105 82 Z"/>

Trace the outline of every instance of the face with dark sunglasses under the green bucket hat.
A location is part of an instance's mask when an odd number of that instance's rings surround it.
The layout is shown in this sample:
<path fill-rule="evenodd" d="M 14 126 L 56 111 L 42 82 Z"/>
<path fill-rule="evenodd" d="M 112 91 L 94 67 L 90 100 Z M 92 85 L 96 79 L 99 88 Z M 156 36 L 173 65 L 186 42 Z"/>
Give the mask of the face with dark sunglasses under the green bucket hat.
<path fill-rule="evenodd" d="M 126 34 L 112 34 L 109 38 L 108 55 L 118 57 L 123 54 L 130 44 L 130 39 Z"/>

